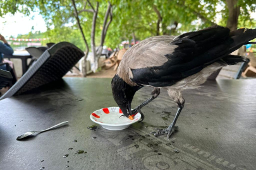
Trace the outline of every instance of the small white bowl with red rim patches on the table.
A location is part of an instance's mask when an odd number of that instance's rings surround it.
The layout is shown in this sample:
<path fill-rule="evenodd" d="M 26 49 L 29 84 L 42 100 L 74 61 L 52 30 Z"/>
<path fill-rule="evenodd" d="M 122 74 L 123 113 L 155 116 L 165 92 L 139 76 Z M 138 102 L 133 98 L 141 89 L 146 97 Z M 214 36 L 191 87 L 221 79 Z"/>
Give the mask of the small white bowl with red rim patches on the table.
<path fill-rule="evenodd" d="M 119 107 L 102 108 L 90 114 L 90 120 L 101 125 L 108 130 L 123 130 L 130 127 L 131 124 L 140 120 L 140 113 L 137 113 L 133 120 L 126 118 Z M 119 118 L 121 116 L 121 118 Z"/>

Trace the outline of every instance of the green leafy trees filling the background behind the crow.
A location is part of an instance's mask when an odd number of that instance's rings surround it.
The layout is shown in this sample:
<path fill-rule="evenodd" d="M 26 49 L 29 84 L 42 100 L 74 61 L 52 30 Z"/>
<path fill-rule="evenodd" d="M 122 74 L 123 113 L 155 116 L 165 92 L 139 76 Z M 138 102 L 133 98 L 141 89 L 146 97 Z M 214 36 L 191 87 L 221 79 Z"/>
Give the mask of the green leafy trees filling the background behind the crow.
<path fill-rule="evenodd" d="M 94 71 L 104 45 L 155 35 L 178 35 L 211 25 L 231 30 L 255 26 L 255 0 L 16 0 L 0 4 L 0 17 L 39 10 L 49 42 L 68 41 L 94 55 Z"/>

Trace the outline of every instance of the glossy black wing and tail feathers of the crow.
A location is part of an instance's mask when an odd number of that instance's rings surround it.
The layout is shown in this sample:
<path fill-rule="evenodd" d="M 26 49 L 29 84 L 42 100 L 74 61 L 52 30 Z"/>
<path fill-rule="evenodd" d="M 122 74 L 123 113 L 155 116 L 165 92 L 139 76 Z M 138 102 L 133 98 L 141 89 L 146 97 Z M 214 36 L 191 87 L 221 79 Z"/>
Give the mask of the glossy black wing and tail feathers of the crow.
<path fill-rule="evenodd" d="M 255 37 L 256 30 L 240 29 L 229 33 L 229 29 L 222 26 L 185 33 L 169 43 L 174 51 L 164 55 L 167 62 L 161 66 L 131 69 L 131 80 L 155 87 L 171 86 L 217 60 L 222 59 L 227 64 L 242 62 L 244 58 L 229 54 Z"/>

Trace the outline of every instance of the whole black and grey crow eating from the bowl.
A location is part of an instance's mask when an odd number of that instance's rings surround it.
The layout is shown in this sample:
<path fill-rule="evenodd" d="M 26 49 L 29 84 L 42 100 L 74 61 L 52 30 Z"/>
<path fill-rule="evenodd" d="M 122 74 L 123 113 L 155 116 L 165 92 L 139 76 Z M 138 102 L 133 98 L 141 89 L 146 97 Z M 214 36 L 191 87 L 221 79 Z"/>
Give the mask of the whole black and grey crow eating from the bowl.
<path fill-rule="evenodd" d="M 141 112 L 143 106 L 157 98 L 161 88 L 166 89 L 178 111 L 171 125 L 158 130 L 155 135 L 168 134 L 169 139 L 185 103 L 181 91 L 198 88 L 223 66 L 246 61 L 246 57 L 230 54 L 254 38 L 256 29 L 230 31 L 217 25 L 178 37 L 147 38 L 123 56 L 111 82 L 114 100 L 128 117 Z M 143 86 L 154 87 L 152 98 L 131 111 L 133 96 Z"/>

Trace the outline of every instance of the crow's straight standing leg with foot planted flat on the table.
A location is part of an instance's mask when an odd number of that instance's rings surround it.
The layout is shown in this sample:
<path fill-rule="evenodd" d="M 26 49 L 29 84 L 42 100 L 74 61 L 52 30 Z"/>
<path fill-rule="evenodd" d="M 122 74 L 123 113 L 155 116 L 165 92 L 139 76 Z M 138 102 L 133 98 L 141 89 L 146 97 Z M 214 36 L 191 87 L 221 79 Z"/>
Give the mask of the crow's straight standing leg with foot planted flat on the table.
<path fill-rule="evenodd" d="M 177 110 L 176 115 L 174 117 L 173 123 L 171 123 L 171 125 L 169 125 L 168 128 L 159 129 L 156 133 L 154 132 L 154 135 L 158 136 L 158 135 L 167 134 L 167 139 L 169 140 L 169 137 L 171 137 L 171 134 L 174 132 L 174 130 L 178 130 L 178 127 L 175 126 L 175 124 L 178 120 L 178 117 L 181 113 L 181 110 L 184 107 L 185 99 L 181 96 L 180 91 L 170 91 L 170 90 L 168 90 L 168 94 L 169 94 L 169 96 L 173 97 L 174 101 L 177 103 L 178 110 Z"/>

